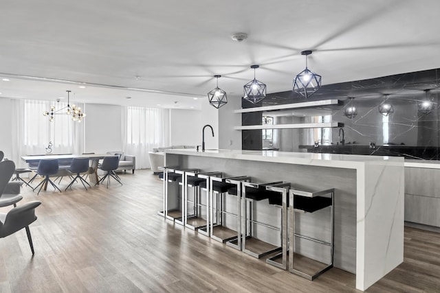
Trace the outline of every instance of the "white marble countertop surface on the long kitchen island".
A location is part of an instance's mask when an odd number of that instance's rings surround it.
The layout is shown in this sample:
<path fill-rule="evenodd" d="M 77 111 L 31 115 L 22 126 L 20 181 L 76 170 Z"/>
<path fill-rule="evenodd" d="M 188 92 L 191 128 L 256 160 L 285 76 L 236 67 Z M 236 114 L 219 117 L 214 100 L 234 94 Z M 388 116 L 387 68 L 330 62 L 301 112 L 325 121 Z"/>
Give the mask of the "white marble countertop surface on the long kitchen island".
<path fill-rule="evenodd" d="M 273 150 L 206 150 L 193 149 L 166 150 L 167 154 L 188 156 L 208 156 L 212 158 L 239 159 L 322 167 L 342 167 L 358 169 L 364 165 L 403 165 L 404 158 L 398 156 L 363 156 L 357 154 L 321 154 L 310 152 L 278 152 Z"/>

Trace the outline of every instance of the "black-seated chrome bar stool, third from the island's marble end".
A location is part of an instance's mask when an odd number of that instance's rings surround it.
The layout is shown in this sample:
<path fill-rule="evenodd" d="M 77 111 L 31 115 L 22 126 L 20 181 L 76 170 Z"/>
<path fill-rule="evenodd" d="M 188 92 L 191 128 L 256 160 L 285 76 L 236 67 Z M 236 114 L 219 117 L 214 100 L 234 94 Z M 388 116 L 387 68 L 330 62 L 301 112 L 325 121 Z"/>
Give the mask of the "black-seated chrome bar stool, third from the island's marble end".
<path fill-rule="evenodd" d="M 266 187 L 270 185 L 283 184 L 283 181 L 277 181 L 273 183 L 242 183 L 242 198 L 243 198 L 243 235 L 242 245 L 243 252 L 251 255 L 252 257 L 261 258 L 265 255 L 270 255 L 282 249 L 281 246 L 264 242 L 254 235 L 254 224 L 263 226 L 265 228 L 271 228 L 275 231 L 281 231 L 281 228 L 272 226 L 271 224 L 263 223 L 254 220 L 254 202 L 260 202 L 270 198 L 271 196 L 279 196 L 278 192 L 267 190 Z M 269 205 L 267 206 L 269 207 Z"/>

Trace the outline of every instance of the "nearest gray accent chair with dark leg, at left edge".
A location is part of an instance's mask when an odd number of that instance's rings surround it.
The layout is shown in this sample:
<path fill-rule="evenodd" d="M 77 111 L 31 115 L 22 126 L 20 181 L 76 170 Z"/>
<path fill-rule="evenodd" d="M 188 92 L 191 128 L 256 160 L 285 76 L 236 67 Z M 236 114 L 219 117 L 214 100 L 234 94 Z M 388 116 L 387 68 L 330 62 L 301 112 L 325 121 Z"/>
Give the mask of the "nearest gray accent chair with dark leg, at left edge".
<path fill-rule="evenodd" d="M 35 209 L 41 204 L 40 201 L 34 200 L 27 202 L 20 207 L 14 207 L 8 213 L 0 213 L 0 238 L 7 237 L 20 231 L 22 228 L 26 229 L 28 241 L 32 255 L 34 255 L 34 244 L 32 244 L 32 237 L 30 235 L 29 225 L 35 222 Z"/>

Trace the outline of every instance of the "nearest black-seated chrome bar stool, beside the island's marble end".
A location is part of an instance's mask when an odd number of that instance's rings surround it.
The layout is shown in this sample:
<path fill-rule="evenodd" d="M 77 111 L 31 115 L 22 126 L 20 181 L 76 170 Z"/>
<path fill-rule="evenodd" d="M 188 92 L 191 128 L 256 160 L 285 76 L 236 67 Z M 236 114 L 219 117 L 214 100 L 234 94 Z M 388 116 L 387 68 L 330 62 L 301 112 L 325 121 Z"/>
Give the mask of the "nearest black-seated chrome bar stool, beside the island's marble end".
<path fill-rule="evenodd" d="M 327 196 L 325 196 L 327 195 Z M 334 189 L 326 189 L 322 191 L 305 191 L 298 189 L 290 189 L 289 192 L 289 271 L 298 274 L 305 279 L 309 279 L 313 281 L 316 277 L 318 277 L 323 272 L 333 268 L 333 238 L 334 238 Z M 295 231 L 295 212 L 296 213 L 314 213 L 321 209 L 325 209 L 330 207 L 330 241 L 325 241 L 322 239 L 316 239 L 315 237 L 309 237 L 307 235 L 300 235 Z M 324 224 L 322 225 L 324 226 Z M 305 257 L 303 255 L 299 255 L 299 253 L 295 253 L 294 256 L 294 248 L 295 248 L 295 237 L 300 237 L 301 239 L 306 239 L 311 242 L 315 242 L 317 244 L 322 244 L 325 246 L 329 246 L 330 248 L 330 263 L 322 263 L 316 259 L 313 259 L 311 256 Z M 305 260 L 307 266 L 300 270 L 295 267 L 295 259 L 300 262 L 301 260 Z M 311 266 L 316 267 L 316 270 L 311 270 Z"/>

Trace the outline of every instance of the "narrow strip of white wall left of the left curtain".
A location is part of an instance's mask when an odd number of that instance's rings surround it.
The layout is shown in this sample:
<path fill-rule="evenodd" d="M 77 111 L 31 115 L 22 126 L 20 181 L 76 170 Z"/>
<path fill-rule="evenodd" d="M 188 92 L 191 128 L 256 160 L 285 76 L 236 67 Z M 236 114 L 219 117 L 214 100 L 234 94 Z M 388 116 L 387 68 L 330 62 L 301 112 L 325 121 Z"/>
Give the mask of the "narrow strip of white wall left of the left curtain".
<path fill-rule="evenodd" d="M 0 150 L 5 153 L 5 158 L 12 157 L 12 105 L 7 97 L 0 97 Z"/>

